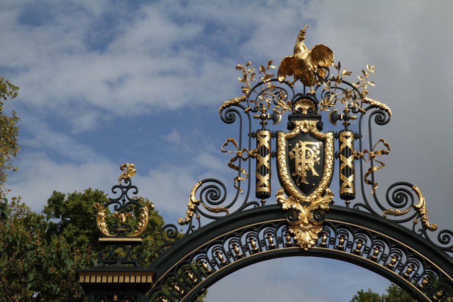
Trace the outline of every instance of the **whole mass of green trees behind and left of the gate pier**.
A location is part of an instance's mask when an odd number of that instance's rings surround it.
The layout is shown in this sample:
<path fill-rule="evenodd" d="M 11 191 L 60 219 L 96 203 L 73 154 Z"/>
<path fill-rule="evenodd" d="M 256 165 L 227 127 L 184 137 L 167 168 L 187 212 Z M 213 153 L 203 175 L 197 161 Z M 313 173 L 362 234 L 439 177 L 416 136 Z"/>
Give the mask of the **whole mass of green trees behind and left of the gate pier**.
<path fill-rule="evenodd" d="M 96 265 L 98 239 L 93 204 L 103 191 L 54 191 L 43 214 L 20 199 L 0 202 L 0 296 L 8 301 L 84 301 L 75 269 Z M 140 198 L 141 202 L 149 202 Z M 157 257 L 164 219 L 149 212 L 142 234 L 145 263 Z"/>

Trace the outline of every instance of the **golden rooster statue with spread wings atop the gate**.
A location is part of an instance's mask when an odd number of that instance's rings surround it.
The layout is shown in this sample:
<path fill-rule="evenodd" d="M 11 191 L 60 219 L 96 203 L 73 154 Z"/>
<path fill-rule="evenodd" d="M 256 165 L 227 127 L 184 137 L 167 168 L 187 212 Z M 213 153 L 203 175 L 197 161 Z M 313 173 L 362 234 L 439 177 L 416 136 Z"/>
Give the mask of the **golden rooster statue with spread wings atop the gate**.
<path fill-rule="evenodd" d="M 312 49 L 305 46 L 305 34 L 308 26 L 300 30 L 294 45 L 294 55 L 284 57 L 278 67 L 278 81 L 286 79 L 286 75 L 294 75 L 294 84 L 300 80 L 305 86 L 313 86 L 324 78 L 324 70 L 318 67 L 328 67 L 334 63 L 333 51 L 323 44 L 317 44 Z"/>

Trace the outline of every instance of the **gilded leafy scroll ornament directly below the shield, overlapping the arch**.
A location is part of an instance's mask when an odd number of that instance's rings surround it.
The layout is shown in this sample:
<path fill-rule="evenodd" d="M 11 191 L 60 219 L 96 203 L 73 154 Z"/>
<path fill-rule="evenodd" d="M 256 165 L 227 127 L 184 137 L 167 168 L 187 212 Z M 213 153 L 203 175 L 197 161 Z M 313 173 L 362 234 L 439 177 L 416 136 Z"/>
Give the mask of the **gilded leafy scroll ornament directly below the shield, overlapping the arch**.
<path fill-rule="evenodd" d="M 303 205 L 301 201 L 293 196 L 286 197 L 284 189 L 280 188 L 275 197 L 277 202 L 282 204 L 284 210 L 293 210 L 287 215 L 288 230 L 294 234 L 294 239 L 304 250 L 309 250 L 316 244 L 318 234 L 323 230 L 323 220 L 319 221 L 314 217 L 315 212 L 322 211 L 321 215 L 329 210 L 329 204 L 333 199 L 332 191 L 327 188 L 324 196 L 318 196 L 310 204 Z"/>

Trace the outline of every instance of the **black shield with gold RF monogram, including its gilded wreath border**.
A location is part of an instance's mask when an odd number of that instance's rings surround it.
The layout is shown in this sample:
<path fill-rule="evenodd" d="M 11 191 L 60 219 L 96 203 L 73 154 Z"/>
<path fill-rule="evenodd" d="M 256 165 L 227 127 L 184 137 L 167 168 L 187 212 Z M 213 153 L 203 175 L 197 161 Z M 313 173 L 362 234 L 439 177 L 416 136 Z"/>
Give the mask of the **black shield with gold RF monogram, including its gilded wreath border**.
<path fill-rule="evenodd" d="M 294 121 L 294 128 L 277 134 L 277 167 L 282 186 L 302 202 L 324 194 L 332 180 L 333 132 L 320 132 L 316 120 Z"/>

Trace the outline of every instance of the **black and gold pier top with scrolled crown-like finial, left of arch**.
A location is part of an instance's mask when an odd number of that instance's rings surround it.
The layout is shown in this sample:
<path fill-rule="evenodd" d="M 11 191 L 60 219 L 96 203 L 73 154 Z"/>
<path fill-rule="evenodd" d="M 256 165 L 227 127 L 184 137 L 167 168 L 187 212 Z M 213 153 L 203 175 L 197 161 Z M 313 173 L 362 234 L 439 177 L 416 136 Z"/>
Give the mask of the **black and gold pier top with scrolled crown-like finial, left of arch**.
<path fill-rule="evenodd" d="M 145 231 L 148 212 L 154 205 L 131 196 L 138 193 L 131 182 L 136 173 L 134 164 L 125 163 L 120 169 L 126 171 L 112 187 L 112 193 L 119 196 L 93 205 L 98 210 L 98 228 L 105 236 L 99 239 L 102 250 L 98 253 L 98 266 L 77 270 L 89 302 L 148 302 L 146 291 L 156 276 L 154 270 L 140 265 L 141 253 L 134 252 L 142 244 L 138 236 Z"/>

